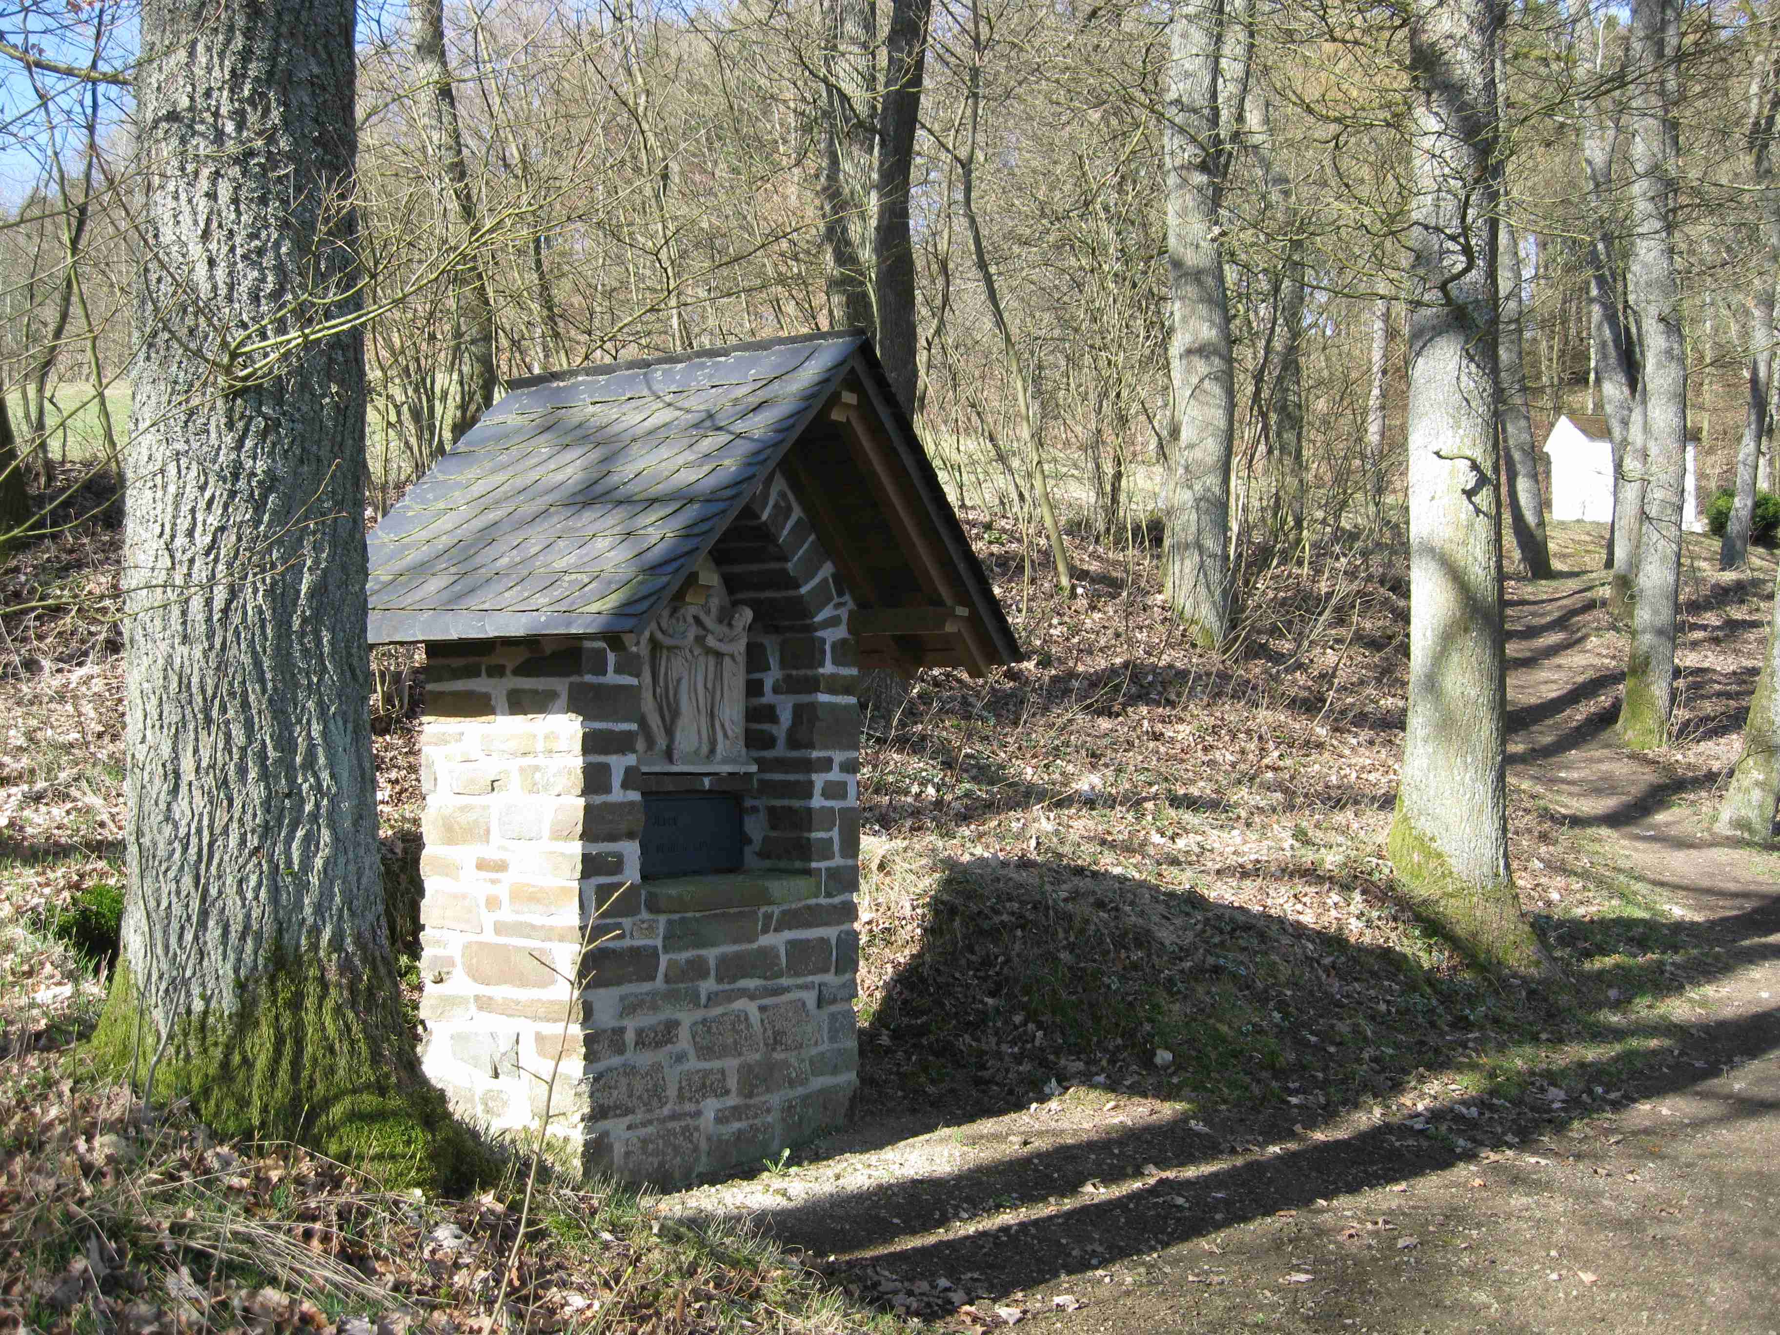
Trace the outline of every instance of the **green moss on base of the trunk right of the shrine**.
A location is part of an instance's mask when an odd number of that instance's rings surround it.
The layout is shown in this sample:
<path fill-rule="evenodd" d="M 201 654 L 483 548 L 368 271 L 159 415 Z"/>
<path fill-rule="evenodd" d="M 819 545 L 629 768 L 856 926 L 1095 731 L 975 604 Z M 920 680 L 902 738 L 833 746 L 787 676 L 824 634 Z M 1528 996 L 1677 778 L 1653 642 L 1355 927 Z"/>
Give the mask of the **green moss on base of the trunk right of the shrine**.
<path fill-rule="evenodd" d="M 1558 977 L 1556 965 L 1520 915 L 1511 881 L 1477 885 L 1458 876 L 1401 805 L 1390 822 L 1387 851 L 1410 904 L 1467 959 L 1522 981 Z"/>

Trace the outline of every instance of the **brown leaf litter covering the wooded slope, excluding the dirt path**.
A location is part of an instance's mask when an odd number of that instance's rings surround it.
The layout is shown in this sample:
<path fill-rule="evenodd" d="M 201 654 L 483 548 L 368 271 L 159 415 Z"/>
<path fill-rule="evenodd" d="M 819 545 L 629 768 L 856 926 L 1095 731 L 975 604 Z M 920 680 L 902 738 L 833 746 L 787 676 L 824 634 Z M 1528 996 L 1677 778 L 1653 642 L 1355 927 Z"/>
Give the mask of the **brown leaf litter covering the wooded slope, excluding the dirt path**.
<path fill-rule="evenodd" d="M 1541 1072 L 1661 1057 L 1670 1040 L 1634 1020 L 1716 965 L 1529 794 L 1511 805 L 1517 885 L 1579 983 L 1574 1015 L 1479 981 L 1392 894 L 1401 552 L 1260 573 L 1239 643 L 1210 655 L 1173 627 L 1152 550 L 1072 539 L 1064 600 L 1004 522 L 965 522 L 1029 657 L 988 682 L 867 687 L 872 1105 L 975 1116 L 1129 1095 L 1312 1127 L 1363 1109 L 1463 1145 L 1509 1100 L 1515 1116 L 1611 1102 Z M 511 1182 L 388 1196 L 288 1146 L 214 1145 L 178 1109 L 150 1116 L 80 1077 L 105 981 L 80 924 L 123 883 L 116 562 L 101 518 L 0 568 L 0 1330 L 450 1335 L 484 1330 L 497 1298 L 507 1330 L 892 1321 L 758 1239 L 621 1191 L 546 1187 L 514 1248 Z M 1682 740 L 1663 764 L 1695 789 L 1734 758 L 1764 582 L 1686 582 Z M 1606 664 L 1620 641 L 1598 634 Z M 409 892 L 392 895 L 393 936 L 409 940 L 420 691 L 411 657 L 379 668 L 377 803 L 386 879 Z"/>

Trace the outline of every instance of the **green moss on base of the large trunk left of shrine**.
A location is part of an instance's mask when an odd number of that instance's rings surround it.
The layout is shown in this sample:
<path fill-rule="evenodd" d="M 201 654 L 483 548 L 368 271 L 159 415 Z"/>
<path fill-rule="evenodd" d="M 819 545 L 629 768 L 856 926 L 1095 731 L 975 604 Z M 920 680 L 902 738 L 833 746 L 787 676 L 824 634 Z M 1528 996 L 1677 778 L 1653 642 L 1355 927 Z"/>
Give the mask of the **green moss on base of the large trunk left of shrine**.
<path fill-rule="evenodd" d="M 295 1141 L 390 1189 L 463 1187 L 491 1168 L 420 1075 L 393 977 L 285 963 L 237 1009 L 198 1011 L 160 1034 L 121 961 L 89 1050 L 103 1075 L 190 1100 L 219 1136 Z"/>

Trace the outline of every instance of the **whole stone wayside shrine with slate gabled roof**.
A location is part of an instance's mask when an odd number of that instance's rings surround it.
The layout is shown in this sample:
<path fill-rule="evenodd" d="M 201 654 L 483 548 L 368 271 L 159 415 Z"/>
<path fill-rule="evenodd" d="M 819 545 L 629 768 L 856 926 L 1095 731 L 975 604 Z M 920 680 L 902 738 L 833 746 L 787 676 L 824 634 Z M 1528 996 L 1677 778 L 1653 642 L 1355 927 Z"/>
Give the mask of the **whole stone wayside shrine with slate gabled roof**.
<path fill-rule="evenodd" d="M 372 534 L 370 639 L 427 646 L 459 1112 L 659 1184 L 837 1125 L 858 669 L 1020 657 L 867 338 L 516 381 Z"/>

